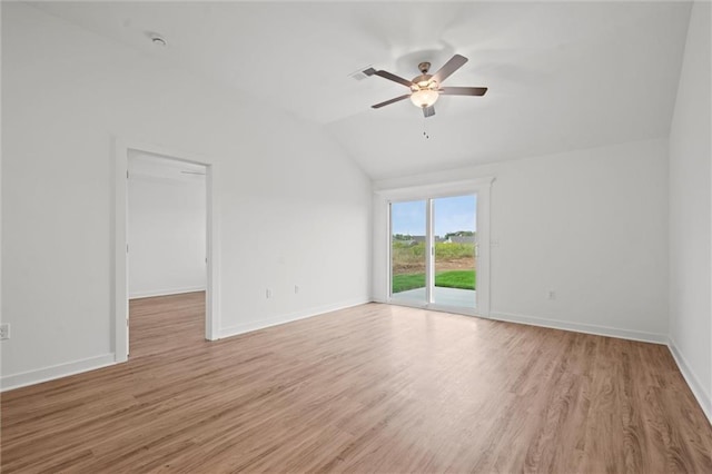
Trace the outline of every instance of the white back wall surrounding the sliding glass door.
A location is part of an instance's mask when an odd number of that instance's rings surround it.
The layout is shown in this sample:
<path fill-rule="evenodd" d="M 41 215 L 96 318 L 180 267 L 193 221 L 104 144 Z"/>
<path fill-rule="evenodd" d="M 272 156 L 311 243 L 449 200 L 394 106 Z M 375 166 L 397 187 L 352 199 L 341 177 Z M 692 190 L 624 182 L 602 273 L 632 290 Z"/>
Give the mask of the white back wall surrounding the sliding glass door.
<path fill-rule="evenodd" d="M 668 140 L 377 181 L 375 189 L 495 177 L 491 316 L 644 340 L 668 337 Z M 386 297 L 383 206 L 374 295 Z M 547 299 L 548 290 L 556 294 Z"/>

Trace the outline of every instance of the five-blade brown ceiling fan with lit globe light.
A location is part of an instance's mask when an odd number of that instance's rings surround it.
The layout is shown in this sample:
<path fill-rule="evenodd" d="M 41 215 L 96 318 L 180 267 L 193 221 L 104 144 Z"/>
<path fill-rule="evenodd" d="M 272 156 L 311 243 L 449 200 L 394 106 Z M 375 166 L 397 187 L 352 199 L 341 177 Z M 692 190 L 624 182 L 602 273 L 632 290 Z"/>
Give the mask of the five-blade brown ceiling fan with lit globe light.
<path fill-rule="evenodd" d="M 380 76 L 384 79 L 398 82 L 411 89 L 409 93 L 404 93 L 403 96 L 396 97 L 395 99 L 386 100 L 385 102 L 376 103 L 375 106 L 370 107 L 374 109 L 379 109 L 382 107 L 389 106 L 390 103 L 399 102 L 400 100 L 411 98 L 411 101 L 416 107 L 423 109 L 423 116 L 432 117 L 435 115 L 435 108 L 433 107 L 433 105 L 435 103 L 435 101 L 437 101 L 441 95 L 484 96 L 487 91 L 486 87 L 441 86 L 445 79 L 447 79 L 457 69 L 462 68 L 465 62 L 467 62 L 467 58 L 465 58 L 464 56 L 455 55 L 434 75 L 427 73 L 427 71 L 431 69 L 429 62 L 421 62 L 418 65 L 421 76 L 416 76 L 415 78 L 413 78 L 413 80 L 403 79 L 402 77 L 398 77 L 388 71 L 377 71 L 374 68 L 368 68 L 364 71 L 366 76 Z"/>

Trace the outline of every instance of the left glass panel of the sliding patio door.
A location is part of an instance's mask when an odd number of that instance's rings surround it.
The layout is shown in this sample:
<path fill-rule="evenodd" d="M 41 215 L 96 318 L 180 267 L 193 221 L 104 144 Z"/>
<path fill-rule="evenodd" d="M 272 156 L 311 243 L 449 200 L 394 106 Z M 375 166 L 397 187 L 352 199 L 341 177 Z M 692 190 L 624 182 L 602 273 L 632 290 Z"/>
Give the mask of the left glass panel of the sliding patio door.
<path fill-rule="evenodd" d="M 427 200 L 390 204 L 390 298 L 427 303 Z"/>

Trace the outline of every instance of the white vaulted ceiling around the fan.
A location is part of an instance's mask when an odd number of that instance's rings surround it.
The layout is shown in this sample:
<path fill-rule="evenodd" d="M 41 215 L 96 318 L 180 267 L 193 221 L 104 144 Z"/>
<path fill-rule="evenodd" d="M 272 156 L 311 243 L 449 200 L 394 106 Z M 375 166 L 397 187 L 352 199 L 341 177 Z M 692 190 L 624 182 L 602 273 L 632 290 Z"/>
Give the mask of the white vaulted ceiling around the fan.
<path fill-rule="evenodd" d="M 52 14 L 324 125 L 374 179 L 666 136 L 684 2 L 47 2 Z M 147 32 L 168 47 L 157 51 Z M 425 120 L 405 78 L 469 58 Z M 425 130 L 429 135 L 426 139 Z"/>

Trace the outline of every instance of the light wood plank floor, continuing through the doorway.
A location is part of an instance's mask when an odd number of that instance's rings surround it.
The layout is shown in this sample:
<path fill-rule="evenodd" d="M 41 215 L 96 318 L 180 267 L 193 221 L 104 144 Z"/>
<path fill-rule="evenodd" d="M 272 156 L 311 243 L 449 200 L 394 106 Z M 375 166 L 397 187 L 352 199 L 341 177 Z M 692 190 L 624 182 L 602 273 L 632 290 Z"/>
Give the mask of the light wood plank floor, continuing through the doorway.
<path fill-rule="evenodd" d="M 712 472 L 664 346 L 378 304 L 207 343 L 202 297 L 2 394 L 2 472 Z"/>

